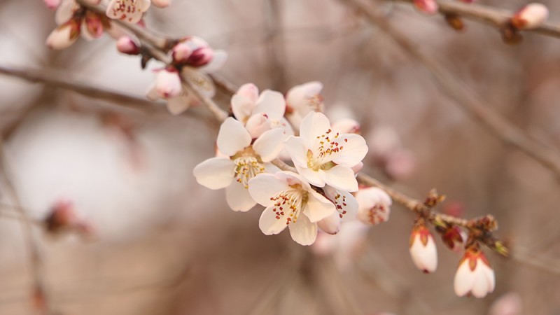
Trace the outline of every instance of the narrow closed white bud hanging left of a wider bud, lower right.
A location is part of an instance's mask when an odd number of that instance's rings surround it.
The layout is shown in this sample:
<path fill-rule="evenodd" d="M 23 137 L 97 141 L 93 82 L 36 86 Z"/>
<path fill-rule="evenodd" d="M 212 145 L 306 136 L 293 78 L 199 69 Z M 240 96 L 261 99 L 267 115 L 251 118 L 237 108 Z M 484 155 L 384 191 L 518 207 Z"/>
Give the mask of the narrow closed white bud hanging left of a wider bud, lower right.
<path fill-rule="evenodd" d="M 424 273 L 435 272 L 437 269 L 437 249 L 432 233 L 426 228 L 423 220 L 416 221 L 409 241 L 410 256 L 414 265 Z"/>

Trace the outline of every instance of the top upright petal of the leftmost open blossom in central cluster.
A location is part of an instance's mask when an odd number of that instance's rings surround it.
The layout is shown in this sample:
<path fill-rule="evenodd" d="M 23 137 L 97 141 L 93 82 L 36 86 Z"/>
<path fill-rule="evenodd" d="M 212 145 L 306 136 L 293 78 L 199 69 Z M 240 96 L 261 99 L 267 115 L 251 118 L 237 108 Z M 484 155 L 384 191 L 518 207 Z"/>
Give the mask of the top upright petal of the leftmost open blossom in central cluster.
<path fill-rule="evenodd" d="M 229 117 L 220 126 L 218 132 L 218 149 L 221 153 L 233 156 L 251 144 L 251 135 L 239 120 Z"/>

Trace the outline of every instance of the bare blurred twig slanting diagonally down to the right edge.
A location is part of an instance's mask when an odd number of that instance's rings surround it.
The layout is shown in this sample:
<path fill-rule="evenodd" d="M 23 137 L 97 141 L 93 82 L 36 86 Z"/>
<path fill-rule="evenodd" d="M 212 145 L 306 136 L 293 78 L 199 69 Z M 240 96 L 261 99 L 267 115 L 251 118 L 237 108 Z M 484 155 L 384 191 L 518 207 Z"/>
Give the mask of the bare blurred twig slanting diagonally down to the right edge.
<path fill-rule="evenodd" d="M 423 64 L 423 66 L 432 73 L 435 81 L 442 88 L 442 91 L 447 94 L 449 98 L 454 99 L 457 104 L 461 105 L 470 116 L 487 127 L 505 143 L 518 148 L 530 158 L 539 162 L 540 165 L 552 171 L 556 179 L 560 181 L 560 155 L 557 154 L 556 151 L 553 151 L 540 141 L 529 137 L 523 130 L 512 125 L 505 120 L 505 118 L 496 113 L 496 111 L 493 111 L 491 106 L 488 106 L 487 102 L 484 102 L 476 94 L 468 90 L 468 87 L 447 71 L 437 59 L 424 53 L 416 44 L 412 43 L 405 34 L 395 29 L 383 15 L 380 15 L 369 6 L 366 6 L 363 1 L 340 1 L 358 10 L 360 13 L 363 13 L 370 23 L 377 25 L 381 31 L 393 38 L 402 50 Z"/>

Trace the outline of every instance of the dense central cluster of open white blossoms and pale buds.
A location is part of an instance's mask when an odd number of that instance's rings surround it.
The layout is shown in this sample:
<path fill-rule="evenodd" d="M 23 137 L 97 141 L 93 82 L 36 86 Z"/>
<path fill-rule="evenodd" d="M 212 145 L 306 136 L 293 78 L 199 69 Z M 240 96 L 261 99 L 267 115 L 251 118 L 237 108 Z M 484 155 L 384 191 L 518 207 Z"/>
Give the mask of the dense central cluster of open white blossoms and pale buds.
<path fill-rule="evenodd" d="M 365 139 L 353 133 L 356 125 L 331 124 L 320 112 L 321 89 L 310 82 L 284 96 L 242 85 L 218 132 L 216 157 L 193 172 L 201 185 L 225 188 L 234 211 L 265 207 L 259 220 L 265 235 L 288 228 L 302 245 L 313 244 L 319 231 L 337 234 L 344 221 L 384 222 L 391 206 L 383 190 L 358 187 Z M 279 169 L 282 160 L 293 168 Z"/>

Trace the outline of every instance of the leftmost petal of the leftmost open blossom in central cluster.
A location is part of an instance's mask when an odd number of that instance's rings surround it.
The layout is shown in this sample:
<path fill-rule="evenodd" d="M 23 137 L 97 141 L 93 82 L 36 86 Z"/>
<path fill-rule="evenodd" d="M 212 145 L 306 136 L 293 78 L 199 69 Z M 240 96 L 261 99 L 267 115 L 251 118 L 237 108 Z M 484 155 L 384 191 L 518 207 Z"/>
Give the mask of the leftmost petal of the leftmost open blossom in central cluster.
<path fill-rule="evenodd" d="M 235 163 L 228 158 L 210 158 L 193 170 L 197 183 L 210 189 L 230 186 L 235 176 Z"/>

